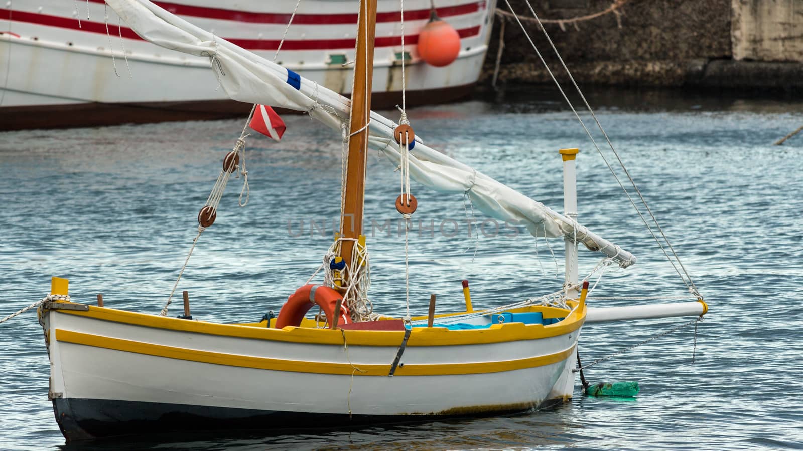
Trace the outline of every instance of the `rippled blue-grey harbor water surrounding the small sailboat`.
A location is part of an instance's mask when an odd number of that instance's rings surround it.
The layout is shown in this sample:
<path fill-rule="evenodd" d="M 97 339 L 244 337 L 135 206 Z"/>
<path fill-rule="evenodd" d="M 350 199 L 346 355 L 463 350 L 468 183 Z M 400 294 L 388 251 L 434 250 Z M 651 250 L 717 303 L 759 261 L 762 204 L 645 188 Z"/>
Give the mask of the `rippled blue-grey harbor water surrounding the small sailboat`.
<path fill-rule="evenodd" d="M 569 403 L 514 416 L 312 432 L 152 436 L 143 430 L 138 437 L 65 445 L 47 400 L 42 330 L 29 311 L 0 324 L 0 449 L 801 449 L 803 135 L 772 143 L 803 124 L 803 102 L 728 96 L 604 91 L 590 99 L 711 309 L 697 327 L 585 372 L 591 383 L 638 381 L 635 398 L 582 396 L 578 380 Z M 554 94 L 520 89 L 413 108 L 409 116 L 431 147 L 557 211 L 563 209 L 558 149 L 580 148 L 578 220 L 638 257 L 626 270 L 609 267 L 589 305 L 689 300 L 605 161 Z M 247 206 L 238 206 L 243 179 L 232 178 L 217 221 L 198 240 L 178 286 L 190 292 L 194 318 L 258 321 L 279 311 L 332 241 L 340 136 L 306 116 L 284 119 L 281 142 L 247 140 Z M 74 301 L 94 303 L 102 293 L 106 307 L 157 314 L 197 234 L 198 209 L 242 126 L 225 120 L 0 133 L 0 317 L 47 295 L 51 276 L 69 278 Z M 601 149 L 629 186 L 616 157 Z M 393 169 L 378 153 L 369 156 L 365 223 L 374 309 L 403 315 L 405 243 L 393 208 L 399 193 Z M 462 194 L 415 184 L 412 192 L 419 206 L 410 231 L 411 314 L 426 315 L 430 294 L 438 295 L 438 312 L 463 308 L 464 278 L 475 307 L 560 290 L 562 240 L 491 221 Z M 581 274 L 600 259 L 581 249 Z M 581 357 L 589 364 L 689 320 L 587 324 Z M 164 377 L 170 375 L 153 373 Z"/>

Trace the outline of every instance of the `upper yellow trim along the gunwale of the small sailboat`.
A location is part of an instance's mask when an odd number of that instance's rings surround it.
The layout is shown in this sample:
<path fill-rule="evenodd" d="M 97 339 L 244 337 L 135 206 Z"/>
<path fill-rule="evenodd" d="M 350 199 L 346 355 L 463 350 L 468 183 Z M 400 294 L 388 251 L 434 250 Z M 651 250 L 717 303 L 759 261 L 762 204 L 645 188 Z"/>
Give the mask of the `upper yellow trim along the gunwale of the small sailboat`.
<path fill-rule="evenodd" d="M 54 303 L 57 307 L 59 303 Z M 544 317 L 552 317 L 555 311 L 568 313 L 554 307 L 527 307 L 514 311 L 550 312 Z M 57 310 L 59 314 L 81 316 L 132 326 L 155 327 L 170 331 L 194 332 L 207 335 L 222 335 L 247 339 L 266 339 L 291 343 L 343 344 L 340 330 L 315 329 L 309 327 L 284 327 L 270 329 L 238 324 L 206 323 L 187 319 L 167 318 L 158 315 L 145 315 L 132 311 L 121 311 L 106 307 L 89 306 L 88 311 Z M 407 346 L 459 346 L 471 344 L 506 343 L 519 340 L 544 339 L 577 331 L 585 322 L 586 308 L 576 309 L 560 323 L 543 326 L 541 324 L 504 323 L 494 324 L 487 329 L 450 331 L 445 327 L 414 327 Z M 446 316 L 446 315 L 444 315 Z M 393 346 L 402 343 L 403 331 L 344 331 L 350 345 Z"/>

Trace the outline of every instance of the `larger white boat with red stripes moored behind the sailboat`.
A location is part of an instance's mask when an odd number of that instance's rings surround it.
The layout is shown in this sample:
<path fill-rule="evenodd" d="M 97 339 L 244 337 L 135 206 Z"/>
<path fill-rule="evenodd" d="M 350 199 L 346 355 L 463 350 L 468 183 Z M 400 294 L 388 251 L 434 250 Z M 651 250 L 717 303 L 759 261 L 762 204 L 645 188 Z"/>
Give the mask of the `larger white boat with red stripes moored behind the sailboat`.
<path fill-rule="evenodd" d="M 357 2 L 278 0 L 157 2 L 181 18 L 332 91 L 353 83 Z M 415 89 L 408 99 L 458 99 L 479 78 L 493 2 L 437 0 L 435 12 L 460 36 L 457 59 L 434 67 L 419 58 L 418 33 L 430 0 L 407 0 L 403 32 L 397 0 L 380 0 L 374 59 L 375 106 L 401 102 L 401 60 Z M 108 35 L 108 37 L 104 36 Z M 103 1 L 15 0 L 0 6 L 0 130 L 193 120 L 242 116 L 250 105 L 229 100 L 210 60 L 139 38 Z"/>

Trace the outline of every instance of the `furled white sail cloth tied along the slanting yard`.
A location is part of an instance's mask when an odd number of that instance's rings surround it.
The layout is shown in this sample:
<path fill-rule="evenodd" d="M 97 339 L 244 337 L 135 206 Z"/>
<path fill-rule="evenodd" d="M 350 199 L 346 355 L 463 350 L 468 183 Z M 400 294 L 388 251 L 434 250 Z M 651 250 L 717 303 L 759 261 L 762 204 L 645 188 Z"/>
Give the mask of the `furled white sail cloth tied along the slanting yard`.
<path fill-rule="evenodd" d="M 106 0 L 137 35 L 170 50 L 206 56 L 219 83 L 231 99 L 308 112 L 328 127 L 348 130 L 350 101 L 326 87 L 300 77 L 278 64 L 218 38 L 190 22 L 161 9 L 149 0 Z M 397 124 L 371 112 L 369 145 L 400 161 L 393 140 Z M 591 250 L 630 266 L 636 258 L 577 221 L 548 209 L 540 202 L 463 165 L 423 144 L 416 136 L 410 152 L 410 177 L 443 193 L 467 193 L 481 212 L 501 221 L 524 225 L 536 237 L 576 238 Z"/>

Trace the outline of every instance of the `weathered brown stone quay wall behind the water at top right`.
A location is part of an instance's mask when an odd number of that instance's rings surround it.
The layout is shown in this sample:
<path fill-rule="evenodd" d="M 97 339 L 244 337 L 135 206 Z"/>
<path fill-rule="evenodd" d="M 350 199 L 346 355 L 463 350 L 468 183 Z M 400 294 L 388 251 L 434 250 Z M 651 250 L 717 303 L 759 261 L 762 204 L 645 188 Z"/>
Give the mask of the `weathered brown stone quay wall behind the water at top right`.
<path fill-rule="evenodd" d="M 557 78 L 567 80 L 543 31 L 532 21 L 527 0 L 509 1 L 520 18 L 527 18 L 525 28 Z M 781 64 L 778 73 L 784 76 L 777 82 L 772 80 L 779 69 L 779 63 L 774 62 L 800 61 L 803 55 L 803 0 L 530 2 L 542 20 L 550 21 L 544 21 L 544 29 L 580 83 L 803 87 L 803 78 L 796 79 L 803 74 L 800 64 Z M 604 12 L 612 6 L 606 14 L 572 22 L 573 18 Z M 498 0 L 497 9 L 509 11 L 506 0 Z M 481 81 L 491 81 L 502 31 L 505 45 L 499 61 L 499 83 L 551 83 L 520 25 L 499 14 Z"/>

